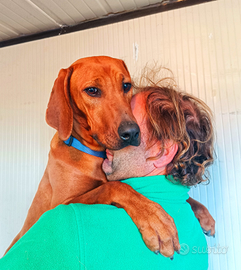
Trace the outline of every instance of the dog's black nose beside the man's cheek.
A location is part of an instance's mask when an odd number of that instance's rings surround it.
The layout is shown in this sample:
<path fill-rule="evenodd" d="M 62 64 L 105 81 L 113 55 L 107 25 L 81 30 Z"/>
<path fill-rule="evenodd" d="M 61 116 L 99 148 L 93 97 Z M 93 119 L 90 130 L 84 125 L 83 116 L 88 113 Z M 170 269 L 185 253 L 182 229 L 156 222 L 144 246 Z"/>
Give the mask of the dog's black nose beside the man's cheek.
<path fill-rule="evenodd" d="M 140 128 L 135 122 L 122 122 L 118 134 L 126 145 L 138 146 L 140 144 Z"/>

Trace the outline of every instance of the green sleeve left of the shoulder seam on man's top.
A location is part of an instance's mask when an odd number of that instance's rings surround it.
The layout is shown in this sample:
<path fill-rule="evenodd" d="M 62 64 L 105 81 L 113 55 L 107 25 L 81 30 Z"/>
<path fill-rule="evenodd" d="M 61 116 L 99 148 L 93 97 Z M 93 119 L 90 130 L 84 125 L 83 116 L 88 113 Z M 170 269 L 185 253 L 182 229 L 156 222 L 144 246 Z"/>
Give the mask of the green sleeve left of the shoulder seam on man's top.
<path fill-rule="evenodd" d="M 0 260 L 0 269 L 80 269 L 78 230 L 70 209 L 60 205 L 46 212 Z"/>

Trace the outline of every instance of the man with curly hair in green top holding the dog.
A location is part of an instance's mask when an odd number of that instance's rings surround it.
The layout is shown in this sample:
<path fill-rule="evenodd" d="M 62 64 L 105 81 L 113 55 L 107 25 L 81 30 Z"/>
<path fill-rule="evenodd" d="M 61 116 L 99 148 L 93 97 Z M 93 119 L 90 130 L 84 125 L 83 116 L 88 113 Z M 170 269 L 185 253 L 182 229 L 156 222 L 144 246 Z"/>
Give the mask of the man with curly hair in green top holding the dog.
<path fill-rule="evenodd" d="M 210 112 L 173 87 L 139 89 L 131 102 L 141 144 L 107 150 L 103 170 L 159 203 L 175 221 L 180 254 L 156 255 L 127 213 L 112 205 L 60 205 L 0 260 L 0 269 L 207 269 L 205 236 L 187 203 L 213 161 Z"/>

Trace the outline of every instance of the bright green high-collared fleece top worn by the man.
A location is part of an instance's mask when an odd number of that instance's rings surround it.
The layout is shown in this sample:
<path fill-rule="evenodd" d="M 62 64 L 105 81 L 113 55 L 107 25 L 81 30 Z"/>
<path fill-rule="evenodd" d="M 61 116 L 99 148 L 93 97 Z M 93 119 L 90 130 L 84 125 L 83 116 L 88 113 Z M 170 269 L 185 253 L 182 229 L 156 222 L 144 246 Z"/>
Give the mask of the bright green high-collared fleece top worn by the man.
<path fill-rule="evenodd" d="M 188 199 L 188 187 L 165 176 L 123 182 L 159 203 L 175 221 L 181 254 L 174 260 L 144 244 L 125 210 L 111 205 L 60 205 L 39 221 L 0 260 L 0 269 L 207 269 L 207 243 Z"/>

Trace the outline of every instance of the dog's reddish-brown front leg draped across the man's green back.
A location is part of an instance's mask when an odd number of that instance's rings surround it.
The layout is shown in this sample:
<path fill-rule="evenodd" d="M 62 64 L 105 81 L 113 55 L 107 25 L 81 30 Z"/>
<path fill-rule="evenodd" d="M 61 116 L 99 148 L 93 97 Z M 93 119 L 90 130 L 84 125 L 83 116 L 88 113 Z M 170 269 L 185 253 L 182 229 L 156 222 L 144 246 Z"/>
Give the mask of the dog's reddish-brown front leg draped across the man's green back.
<path fill-rule="evenodd" d="M 147 199 L 125 183 L 108 182 L 69 203 L 110 204 L 124 208 L 150 250 L 171 257 L 174 251 L 180 249 L 172 217 L 159 204 Z"/>

